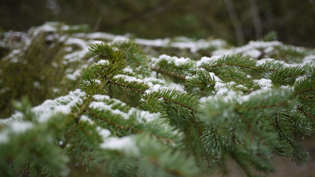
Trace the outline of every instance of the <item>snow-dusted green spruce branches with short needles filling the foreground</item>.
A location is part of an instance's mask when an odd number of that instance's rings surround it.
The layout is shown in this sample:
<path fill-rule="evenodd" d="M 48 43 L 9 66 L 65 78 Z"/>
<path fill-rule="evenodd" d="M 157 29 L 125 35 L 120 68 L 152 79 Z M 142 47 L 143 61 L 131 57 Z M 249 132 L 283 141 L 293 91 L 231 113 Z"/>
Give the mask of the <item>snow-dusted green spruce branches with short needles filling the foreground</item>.
<path fill-rule="evenodd" d="M 93 62 L 75 91 L 13 102 L 0 119 L 1 176 L 67 176 L 75 163 L 112 176 L 199 176 L 227 172 L 230 160 L 258 176 L 275 170 L 273 154 L 308 161 L 296 136 L 315 130 L 312 51 L 257 41 L 192 60 L 146 55 L 127 38 L 70 39 L 87 48 L 64 67 Z"/>

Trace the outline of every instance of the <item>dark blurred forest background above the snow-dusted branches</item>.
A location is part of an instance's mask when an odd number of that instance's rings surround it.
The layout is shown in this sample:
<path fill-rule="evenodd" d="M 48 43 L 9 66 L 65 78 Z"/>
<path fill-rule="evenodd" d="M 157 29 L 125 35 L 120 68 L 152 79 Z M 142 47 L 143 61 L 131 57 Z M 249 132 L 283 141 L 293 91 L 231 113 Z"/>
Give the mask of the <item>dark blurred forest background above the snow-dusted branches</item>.
<path fill-rule="evenodd" d="M 315 47 L 315 0 L 0 0 L 0 31 L 46 21 L 141 38 L 222 38 L 243 45 L 275 31 L 278 40 Z"/>

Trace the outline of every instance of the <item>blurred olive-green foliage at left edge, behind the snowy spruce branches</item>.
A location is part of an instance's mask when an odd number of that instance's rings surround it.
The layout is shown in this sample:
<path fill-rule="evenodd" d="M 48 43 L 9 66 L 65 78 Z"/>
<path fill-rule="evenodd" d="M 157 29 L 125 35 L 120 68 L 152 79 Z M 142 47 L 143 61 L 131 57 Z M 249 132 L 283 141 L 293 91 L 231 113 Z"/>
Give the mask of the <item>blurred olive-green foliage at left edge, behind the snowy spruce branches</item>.
<path fill-rule="evenodd" d="M 51 42 L 47 42 L 45 37 L 46 34 L 39 34 L 15 63 L 4 58 L 0 60 L 0 88 L 7 90 L 0 94 L 0 117 L 12 114 L 13 108 L 10 105 L 13 99 L 27 95 L 33 105 L 39 105 L 60 93 L 68 93 L 77 85 L 76 82 L 64 83 L 65 66 L 52 65 L 61 63 L 65 55 L 64 44 L 55 41 L 54 46 L 49 47 Z M 58 88 L 60 93 L 55 93 L 54 88 Z"/>

